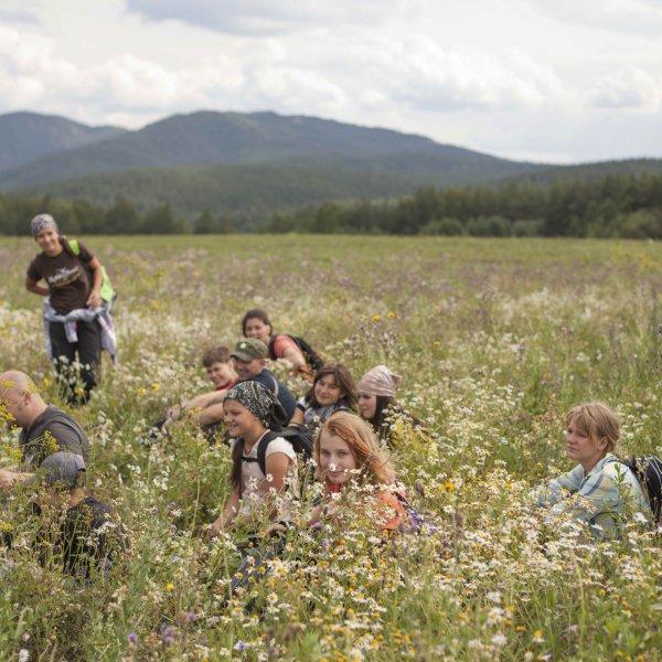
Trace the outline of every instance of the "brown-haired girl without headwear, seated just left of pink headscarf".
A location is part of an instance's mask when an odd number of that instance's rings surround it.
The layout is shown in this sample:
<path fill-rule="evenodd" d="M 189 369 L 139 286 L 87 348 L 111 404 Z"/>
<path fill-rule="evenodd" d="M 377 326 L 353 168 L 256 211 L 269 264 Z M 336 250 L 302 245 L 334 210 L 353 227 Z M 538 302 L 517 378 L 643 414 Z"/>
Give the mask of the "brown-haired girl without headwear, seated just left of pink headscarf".
<path fill-rule="evenodd" d="M 356 386 L 350 371 L 340 363 L 328 363 L 314 375 L 312 386 L 297 403 L 291 423 L 305 424 L 312 435 L 334 412 L 356 407 Z"/>

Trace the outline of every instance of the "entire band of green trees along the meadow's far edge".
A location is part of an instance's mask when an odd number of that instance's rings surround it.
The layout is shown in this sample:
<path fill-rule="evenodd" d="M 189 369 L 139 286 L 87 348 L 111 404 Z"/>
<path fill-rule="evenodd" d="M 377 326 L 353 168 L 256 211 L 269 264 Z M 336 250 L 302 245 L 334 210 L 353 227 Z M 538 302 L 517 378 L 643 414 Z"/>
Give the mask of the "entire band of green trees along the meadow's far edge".
<path fill-rule="evenodd" d="M 0 233 L 25 235 L 29 220 L 49 212 L 68 234 L 220 234 L 255 226 L 246 215 L 202 210 L 181 218 L 168 202 L 148 210 L 117 197 L 87 200 L 0 195 Z M 325 202 L 276 212 L 258 229 L 447 236 L 576 236 L 662 239 L 662 174 L 604 174 L 455 189 L 424 186 L 397 201 Z"/>

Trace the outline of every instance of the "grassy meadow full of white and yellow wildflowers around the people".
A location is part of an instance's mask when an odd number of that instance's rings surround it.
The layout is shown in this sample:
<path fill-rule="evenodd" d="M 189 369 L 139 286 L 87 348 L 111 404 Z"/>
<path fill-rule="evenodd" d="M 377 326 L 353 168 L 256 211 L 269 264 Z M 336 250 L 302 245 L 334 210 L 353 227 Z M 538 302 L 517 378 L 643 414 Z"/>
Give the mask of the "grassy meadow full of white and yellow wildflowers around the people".
<path fill-rule="evenodd" d="M 85 241 L 85 237 L 83 237 Z M 621 451 L 662 456 L 662 244 L 343 236 L 89 237 L 119 292 L 119 363 L 75 412 L 88 487 L 130 551 L 90 586 L 42 568 L 25 493 L 0 528 L 2 660 L 659 660 L 662 536 L 596 542 L 549 523 L 527 491 L 570 468 L 563 417 L 602 399 Z M 61 405 L 36 245 L 0 246 L 0 369 Z M 164 408 L 209 388 L 204 349 L 233 346 L 248 308 L 305 337 L 355 380 L 378 363 L 430 433 L 393 455 L 436 531 L 381 544 L 356 517 L 299 530 L 265 580 L 227 600 L 237 537 L 204 538 L 229 457 L 188 421 L 152 441 Z M 307 388 L 274 371 L 297 395 Z M 0 431 L 2 463 L 17 434 Z M 307 504 L 300 505 L 301 517 Z M 246 609 L 248 604 L 258 609 Z"/>

